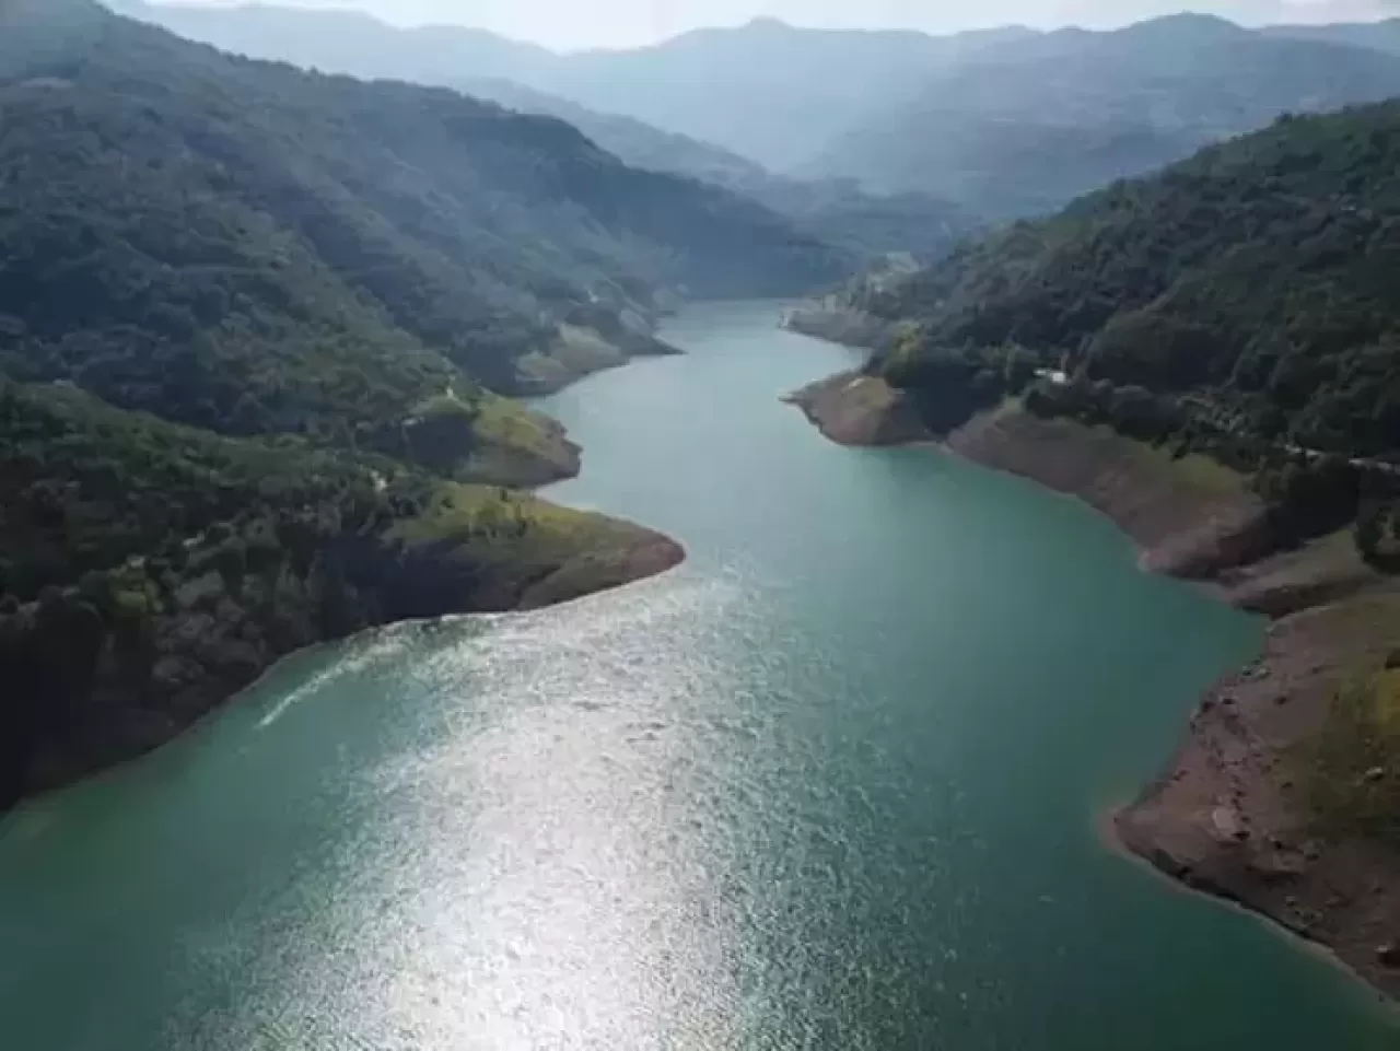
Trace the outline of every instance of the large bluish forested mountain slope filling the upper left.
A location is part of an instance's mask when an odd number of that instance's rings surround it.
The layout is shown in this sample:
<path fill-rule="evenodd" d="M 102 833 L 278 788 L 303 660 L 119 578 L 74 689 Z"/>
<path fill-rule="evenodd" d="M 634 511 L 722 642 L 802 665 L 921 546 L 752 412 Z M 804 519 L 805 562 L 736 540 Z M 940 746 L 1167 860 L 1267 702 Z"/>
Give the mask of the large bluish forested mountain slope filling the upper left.
<path fill-rule="evenodd" d="M 846 258 L 557 120 L 248 62 L 81 0 L 4 8 L 0 355 L 235 434 L 393 446 L 564 322 L 791 294 Z"/>

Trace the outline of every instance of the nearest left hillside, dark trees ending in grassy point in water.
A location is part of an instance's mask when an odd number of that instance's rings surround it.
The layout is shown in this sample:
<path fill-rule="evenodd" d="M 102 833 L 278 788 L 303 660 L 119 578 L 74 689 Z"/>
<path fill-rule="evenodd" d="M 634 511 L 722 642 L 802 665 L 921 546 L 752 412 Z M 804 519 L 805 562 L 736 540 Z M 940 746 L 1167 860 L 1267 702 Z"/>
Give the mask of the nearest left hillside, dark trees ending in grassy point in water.
<path fill-rule="evenodd" d="M 675 564 L 637 526 L 0 378 L 0 806 L 154 747 L 279 656 Z"/>

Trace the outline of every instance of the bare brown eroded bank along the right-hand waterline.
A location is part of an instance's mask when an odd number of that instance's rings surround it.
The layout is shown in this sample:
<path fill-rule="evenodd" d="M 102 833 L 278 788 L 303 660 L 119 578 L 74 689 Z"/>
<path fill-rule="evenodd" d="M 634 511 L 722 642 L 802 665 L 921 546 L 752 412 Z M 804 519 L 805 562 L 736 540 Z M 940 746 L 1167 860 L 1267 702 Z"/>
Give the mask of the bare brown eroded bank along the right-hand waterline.
<path fill-rule="evenodd" d="M 879 378 L 836 376 L 790 400 L 834 441 L 937 438 L 910 427 L 903 396 Z M 1329 947 L 1400 995 L 1400 858 L 1320 820 L 1309 798 L 1338 693 L 1393 661 L 1400 588 L 1345 536 L 1280 550 L 1264 507 L 1218 465 L 1173 462 L 1107 428 L 1008 402 L 945 442 L 1106 514 L 1138 543 L 1144 568 L 1270 617 L 1263 655 L 1210 690 L 1166 771 L 1113 828 L 1163 873 Z"/>

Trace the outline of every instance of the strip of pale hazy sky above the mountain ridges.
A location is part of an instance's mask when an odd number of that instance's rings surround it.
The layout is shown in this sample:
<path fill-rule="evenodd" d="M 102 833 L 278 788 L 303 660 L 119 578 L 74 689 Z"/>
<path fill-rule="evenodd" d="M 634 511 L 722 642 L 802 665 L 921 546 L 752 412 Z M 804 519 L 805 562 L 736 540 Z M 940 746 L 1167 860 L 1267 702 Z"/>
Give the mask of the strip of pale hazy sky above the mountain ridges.
<path fill-rule="evenodd" d="M 181 0 L 228 4 L 235 0 Z M 1183 0 L 269 0 L 357 7 L 400 25 L 456 22 L 550 48 L 650 43 L 700 25 L 760 15 L 795 25 L 909 27 L 948 32 L 1007 22 L 1113 27 L 1180 10 Z M 1400 14 L 1400 0 L 1197 0 L 1245 24 L 1361 21 Z"/>

